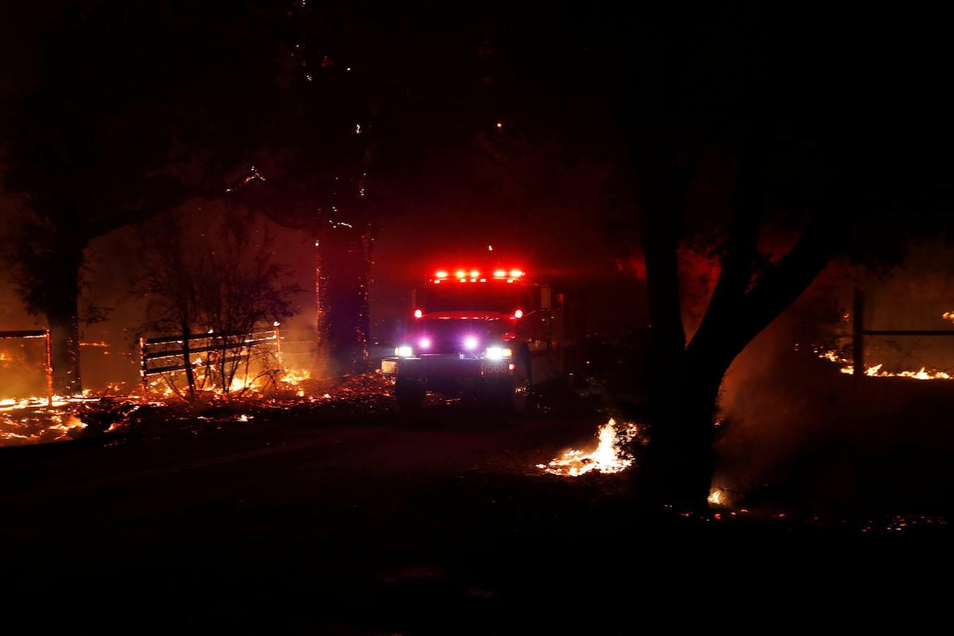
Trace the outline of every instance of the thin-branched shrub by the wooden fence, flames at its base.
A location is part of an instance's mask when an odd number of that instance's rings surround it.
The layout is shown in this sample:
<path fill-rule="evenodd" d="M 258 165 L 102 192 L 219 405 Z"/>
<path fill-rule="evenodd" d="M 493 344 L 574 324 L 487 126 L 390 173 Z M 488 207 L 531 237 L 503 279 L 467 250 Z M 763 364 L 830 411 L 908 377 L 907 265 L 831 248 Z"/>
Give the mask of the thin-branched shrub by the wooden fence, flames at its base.
<path fill-rule="evenodd" d="M 271 343 L 254 335 L 291 318 L 289 298 L 301 290 L 273 262 L 272 247 L 253 215 L 212 215 L 197 227 L 173 215 L 147 226 L 146 269 L 136 286 L 148 298 L 145 328 L 177 337 L 171 342 L 181 362 L 163 378 L 180 397 L 195 400 L 210 388 L 241 394 L 257 380 L 278 380 Z M 184 376 L 184 388 L 176 376 Z"/>

